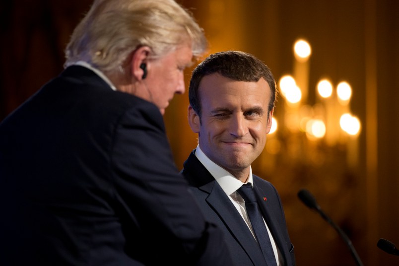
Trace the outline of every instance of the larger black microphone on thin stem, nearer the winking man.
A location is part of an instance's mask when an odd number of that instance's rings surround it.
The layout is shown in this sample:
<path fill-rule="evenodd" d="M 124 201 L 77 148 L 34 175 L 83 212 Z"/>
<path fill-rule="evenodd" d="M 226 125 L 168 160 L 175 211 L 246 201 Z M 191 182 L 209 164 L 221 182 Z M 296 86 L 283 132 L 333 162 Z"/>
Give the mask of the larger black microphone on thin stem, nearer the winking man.
<path fill-rule="evenodd" d="M 315 209 L 322 217 L 324 220 L 326 220 L 334 229 L 335 231 L 338 232 L 339 236 L 343 239 L 345 242 L 346 246 L 349 248 L 350 253 L 355 260 L 356 264 L 358 266 L 363 266 L 362 261 L 359 258 L 359 255 L 357 255 L 355 248 L 352 245 L 352 242 L 348 238 L 348 236 L 342 231 L 341 228 L 339 228 L 333 221 L 332 219 L 322 210 L 320 205 L 317 203 L 316 199 L 313 197 L 313 195 L 305 189 L 302 189 L 298 192 L 298 198 L 302 200 L 302 202 L 308 206 L 311 209 Z"/>

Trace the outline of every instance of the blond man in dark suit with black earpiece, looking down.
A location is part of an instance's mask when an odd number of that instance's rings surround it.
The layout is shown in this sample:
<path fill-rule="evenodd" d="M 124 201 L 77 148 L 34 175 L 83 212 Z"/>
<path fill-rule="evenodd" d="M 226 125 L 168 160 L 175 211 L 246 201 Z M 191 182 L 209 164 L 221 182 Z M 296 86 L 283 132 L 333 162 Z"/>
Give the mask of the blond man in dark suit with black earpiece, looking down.
<path fill-rule="evenodd" d="M 0 265 L 231 265 L 162 114 L 206 40 L 173 0 L 96 0 L 67 67 L 0 124 Z"/>

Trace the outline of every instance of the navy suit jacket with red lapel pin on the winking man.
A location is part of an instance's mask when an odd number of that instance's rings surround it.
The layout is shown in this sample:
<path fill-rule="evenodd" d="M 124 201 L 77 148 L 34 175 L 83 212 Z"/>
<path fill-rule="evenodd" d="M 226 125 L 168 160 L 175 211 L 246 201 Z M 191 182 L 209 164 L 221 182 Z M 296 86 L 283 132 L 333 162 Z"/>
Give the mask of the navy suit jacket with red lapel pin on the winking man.
<path fill-rule="evenodd" d="M 195 151 L 185 161 L 182 174 L 188 180 L 205 217 L 222 228 L 225 245 L 229 248 L 235 265 L 266 265 L 262 251 L 247 224 L 220 185 L 197 159 Z M 255 195 L 284 258 L 284 265 L 293 266 L 294 247 L 288 236 L 280 197 L 269 182 L 256 175 L 253 175 L 253 181 Z"/>

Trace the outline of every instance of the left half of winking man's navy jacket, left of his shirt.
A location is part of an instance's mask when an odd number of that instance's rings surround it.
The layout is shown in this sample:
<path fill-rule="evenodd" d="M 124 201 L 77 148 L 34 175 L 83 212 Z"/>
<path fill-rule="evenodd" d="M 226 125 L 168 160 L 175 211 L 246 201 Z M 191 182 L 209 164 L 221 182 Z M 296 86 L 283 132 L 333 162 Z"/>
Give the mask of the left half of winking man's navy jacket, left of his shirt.
<path fill-rule="evenodd" d="M 181 173 L 189 182 L 205 218 L 222 229 L 234 264 L 264 265 L 262 251 L 247 224 L 213 176 L 199 162 L 194 151 L 185 161 Z"/>

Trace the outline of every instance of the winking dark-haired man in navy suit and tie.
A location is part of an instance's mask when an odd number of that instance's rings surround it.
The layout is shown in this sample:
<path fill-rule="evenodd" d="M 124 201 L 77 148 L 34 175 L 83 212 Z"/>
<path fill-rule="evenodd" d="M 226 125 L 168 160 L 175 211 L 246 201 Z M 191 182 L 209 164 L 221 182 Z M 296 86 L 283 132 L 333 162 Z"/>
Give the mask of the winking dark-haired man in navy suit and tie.
<path fill-rule="evenodd" d="M 236 265 L 295 265 L 277 191 L 251 169 L 265 147 L 275 96 L 269 68 L 237 51 L 210 55 L 190 82 L 188 119 L 199 145 L 182 173 L 205 217 L 223 229 Z"/>

